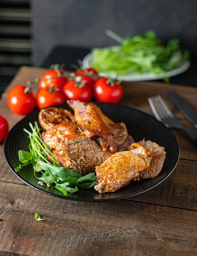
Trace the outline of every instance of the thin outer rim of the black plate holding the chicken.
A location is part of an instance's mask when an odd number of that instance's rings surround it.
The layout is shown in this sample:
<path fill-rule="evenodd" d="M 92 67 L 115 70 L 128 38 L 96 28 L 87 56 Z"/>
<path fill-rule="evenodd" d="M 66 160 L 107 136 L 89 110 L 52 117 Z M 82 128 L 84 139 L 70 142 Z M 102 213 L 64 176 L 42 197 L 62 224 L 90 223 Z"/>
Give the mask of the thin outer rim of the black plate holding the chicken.
<path fill-rule="evenodd" d="M 91 102 L 92 102 L 92 103 L 96 103 L 95 101 L 91 101 Z M 101 103 L 101 102 L 99 102 L 99 103 Z M 102 103 L 101 103 L 101 104 L 102 104 Z M 104 103 L 104 104 L 106 104 L 106 103 Z M 112 104 L 112 103 L 107 103 L 107 104 L 110 104 L 110 105 L 117 105 L 117 104 Z M 63 105 L 65 105 L 65 103 L 64 103 L 64 104 L 60 104 L 60 105 L 55 105 L 54 107 L 59 107 L 59 108 L 61 108 Z M 147 114 L 146 112 L 143 112 L 143 111 L 141 111 L 141 110 L 138 110 L 138 109 L 136 109 L 136 108 L 133 108 L 133 107 L 130 107 L 130 106 L 127 106 L 127 105 L 123 105 L 123 104 L 118 104 L 118 105 L 123 106 L 123 107 L 126 107 L 126 108 L 130 108 L 130 109 L 132 109 L 132 110 L 134 110 L 134 111 L 136 111 L 136 112 L 140 112 L 140 113 L 143 114 L 143 115 L 149 116 L 149 118 L 154 119 L 154 121 L 156 121 L 156 122 L 159 122 L 165 129 L 168 129 L 168 131 L 171 133 L 171 135 L 172 135 L 173 138 L 174 138 L 175 146 L 176 146 L 176 149 L 177 149 L 177 160 L 176 160 L 175 165 L 173 166 L 172 170 L 171 170 L 165 177 L 163 177 L 161 180 L 159 180 L 156 184 L 150 186 L 149 188 L 147 188 L 147 189 L 145 189 L 145 190 L 143 190 L 143 191 L 136 192 L 136 193 L 134 193 L 134 194 L 132 194 L 132 195 L 119 196 L 119 197 L 116 197 L 116 198 L 101 198 L 101 199 L 85 199 L 85 198 L 66 197 L 66 196 L 63 196 L 63 195 L 57 195 L 57 194 L 54 194 L 54 193 L 45 191 L 45 190 L 43 190 L 42 188 L 38 188 L 38 187 L 34 186 L 33 184 L 31 184 L 31 183 L 29 183 L 28 181 L 24 180 L 24 178 L 22 178 L 19 173 L 16 173 L 16 172 L 15 172 L 13 166 L 12 166 L 12 165 L 9 163 L 9 161 L 8 161 L 8 158 L 7 158 L 8 152 L 7 152 L 7 150 L 6 150 L 7 147 L 8 147 L 7 141 L 9 140 L 9 137 L 11 136 L 13 130 L 15 129 L 15 126 L 18 126 L 18 124 L 20 124 L 21 122 L 23 122 L 24 119 L 26 119 L 27 117 L 29 117 L 29 115 L 27 115 L 27 116 L 25 116 L 24 118 L 22 118 L 20 121 L 18 121 L 18 122 L 11 128 L 11 130 L 9 131 L 9 133 L 8 133 L 8 135 L 7 135 L 7 137 L 6 137 L 5 141 L 4 141 L 4 145 L 3 145 L 4 158 L 5 158 L 5 160 L 6 160 L 7 164 L 8 164 L 8 166 L 9 166 L 9 168 L 11 169 L 11 171 L 12 171 L 22 182 L 24 182 L 25 184 L 27 184 L 27 185 L 30 186 L 31 188 L 36 189 L 37 191 L 40 191 L 40 192 L 45 193 L 45 194 L 47 194 L 47 195 L 55 196 L 55 197 L 57 197 L 57 198 L 62 198 L 62 199 L 65 199 L 65 200 L 72 200 L 72 201 L 79 201 L 79 202 L 107 202 L 107 201 L 116 201 L 116 200 L 123 200 L 123 199 L 131 198 L 131 197 L 133 197 L 133 196 L 136 196 L 136 195 L 140 195 L 140 194 L 142 194 L 142 193 L 145 193 L 145 192 L 149 191 L 150 189 L 153 189 L 155 186 L 158 186 L 158 185 L 161 184 L 164 180 L 166 180 L 166 179 L 169 177 L 169 175 L 171 175 L 171 173 L 174 171 L 174 169 L 176 168 L 176 166 L 177 166 L 177 164 L 178 164 L 178 162 L 179 162 L 180 148 L 179 148 L 179 144 L 178 144 L 178 142 L 177 142 L 177 139 L 176 139 L 175 135 L 173 134 L 173 132 L 171 132 L 171 130 L 170 130 L 169 128 L 167 128 L 162 122 L 158 121 L 158 120 L 155 119 L 153 116 Z M 39 113 L 39 110 L 33 111 L 30 115 L 35 115 L 36 112 Z"/>

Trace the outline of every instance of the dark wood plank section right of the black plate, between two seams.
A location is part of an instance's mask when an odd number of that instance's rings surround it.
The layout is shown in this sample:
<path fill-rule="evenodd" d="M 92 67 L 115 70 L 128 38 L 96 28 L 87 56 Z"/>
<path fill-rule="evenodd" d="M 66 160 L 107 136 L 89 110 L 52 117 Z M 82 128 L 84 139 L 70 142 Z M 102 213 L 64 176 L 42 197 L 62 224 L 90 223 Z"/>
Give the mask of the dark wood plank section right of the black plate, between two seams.
<path fill-rule="evenodd" d="M 196 170 L 197 162 L 181 159 L 175 171 L 162 184 L 129 200 L 195 210 L 197 209 Z"/>

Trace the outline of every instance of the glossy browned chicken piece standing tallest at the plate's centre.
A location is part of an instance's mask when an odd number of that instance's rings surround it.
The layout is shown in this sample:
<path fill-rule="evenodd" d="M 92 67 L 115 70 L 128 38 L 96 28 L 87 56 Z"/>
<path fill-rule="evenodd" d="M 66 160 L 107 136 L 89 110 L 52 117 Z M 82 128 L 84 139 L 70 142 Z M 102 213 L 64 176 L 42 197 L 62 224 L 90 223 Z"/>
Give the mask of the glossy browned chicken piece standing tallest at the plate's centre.
<path fill-rule="evenodd" d="M 99 117 L 100 108 L 93 103 L 83 101 L 67 101 L 74 110 L 77 125 L 84 131 L 84 135 L 95 140 L 103 151 L 115 153 L 118 150 L 116 133 L 112 132 L 107 124 Z M 99 111 L 100 110 L 100 111 Z"/>

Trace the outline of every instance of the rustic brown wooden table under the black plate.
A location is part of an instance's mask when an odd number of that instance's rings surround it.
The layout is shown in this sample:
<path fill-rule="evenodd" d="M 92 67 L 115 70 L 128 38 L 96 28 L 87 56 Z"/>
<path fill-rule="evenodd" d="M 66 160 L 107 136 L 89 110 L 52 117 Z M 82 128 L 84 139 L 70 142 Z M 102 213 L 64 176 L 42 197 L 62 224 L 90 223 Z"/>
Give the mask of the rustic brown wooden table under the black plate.
<path fill-rule="evenodd" d="M 10 128 L 23 116 L 8 109 L 8 90 L 43 72 L 22 67 L 2 95 L 0 115 Z M 168 101 L 167 92 L 178 92 L 197 110 L 196 88 L 155 82 L 125 82 L 123 87 L 122 104 L 152 114 L 147 98 L 161 94 L 193 128 Z M 0 144 L 0 255 L 197 255 L 197 146 L 182 131 L 172 131 L 181 150 L 175 171 L 154 189 L 114 202 L 67 201 L 26 186 L 7 166 Z M 44 221 L 37 222 L 35 212 Z"/>

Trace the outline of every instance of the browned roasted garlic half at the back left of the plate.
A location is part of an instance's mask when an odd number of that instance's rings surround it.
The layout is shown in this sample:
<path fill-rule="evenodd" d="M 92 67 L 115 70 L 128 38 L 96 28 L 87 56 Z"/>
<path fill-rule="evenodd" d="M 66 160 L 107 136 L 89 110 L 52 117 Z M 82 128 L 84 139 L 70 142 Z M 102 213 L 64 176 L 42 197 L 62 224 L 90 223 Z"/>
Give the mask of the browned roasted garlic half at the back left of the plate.
<path fill-rule="evenodd" d="M 65 121 L 75 123 L 72 113 L 63 108 L 44 108 L 40 110 L 38 115 L 39 123 L 44 130 L 52 128 L 55 124 L 61 124 Z"/>

